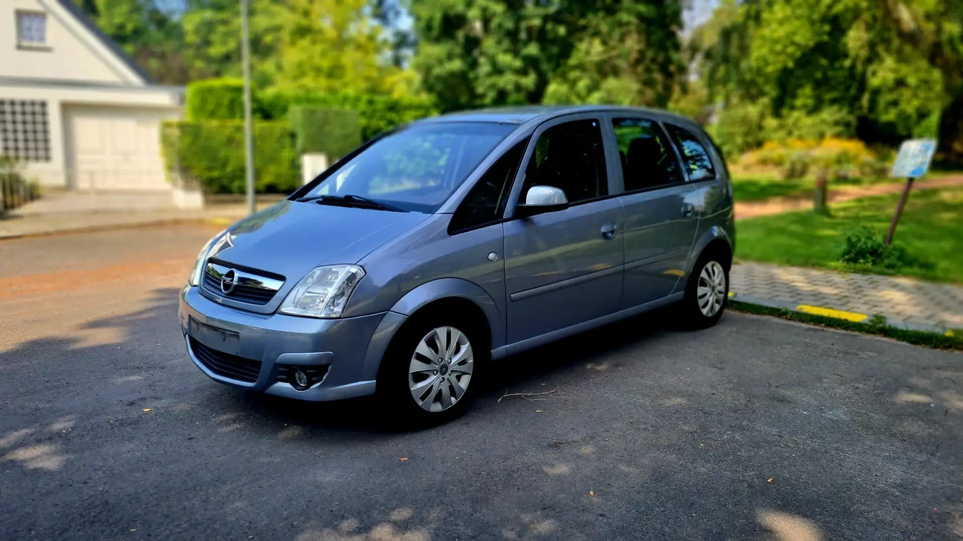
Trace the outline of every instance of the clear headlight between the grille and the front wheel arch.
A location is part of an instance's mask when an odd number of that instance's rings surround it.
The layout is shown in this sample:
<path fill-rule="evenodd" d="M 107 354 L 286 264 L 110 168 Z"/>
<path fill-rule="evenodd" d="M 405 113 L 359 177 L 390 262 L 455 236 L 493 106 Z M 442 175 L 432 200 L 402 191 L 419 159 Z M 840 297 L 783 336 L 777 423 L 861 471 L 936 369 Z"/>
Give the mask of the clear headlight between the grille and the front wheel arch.
<path fill-rule="evenodd" d="M 364 269 L 357 265 L 326 265 L 311 270 L 285 297 L 278 312 L 311 318 L 340 318 Z"/>

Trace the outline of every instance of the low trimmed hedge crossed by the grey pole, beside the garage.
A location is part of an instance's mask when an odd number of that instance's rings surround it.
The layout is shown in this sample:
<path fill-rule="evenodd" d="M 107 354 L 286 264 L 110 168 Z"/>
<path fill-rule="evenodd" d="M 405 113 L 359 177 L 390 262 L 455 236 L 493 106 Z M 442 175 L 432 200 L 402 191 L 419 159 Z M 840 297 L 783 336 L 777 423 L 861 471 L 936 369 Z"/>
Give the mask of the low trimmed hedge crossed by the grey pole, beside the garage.
<path fill-rule="evenodd" d="M 169 120 L 161 128 L 171 173 L 205 193 L 244 193 L 243 120 Z M 300 186 L 298 152 L 287 122 L 254 122 L 254 181 L 259 193 L 291 193 Z"/>

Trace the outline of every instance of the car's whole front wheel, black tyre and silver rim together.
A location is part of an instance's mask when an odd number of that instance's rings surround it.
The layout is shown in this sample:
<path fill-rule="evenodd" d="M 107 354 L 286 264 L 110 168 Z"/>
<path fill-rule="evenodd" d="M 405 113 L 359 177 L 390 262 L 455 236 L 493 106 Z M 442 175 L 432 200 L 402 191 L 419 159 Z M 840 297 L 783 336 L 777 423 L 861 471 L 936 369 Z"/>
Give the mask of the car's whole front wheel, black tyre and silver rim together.
<path fill-rule="evenodd" d="M 490 354 L 487 344 L 468 319 L 450 313 L 415 315 L 381 360 L 379 401 L 401 425 L 452 421 L 480 387 L 479 375 Z"/>

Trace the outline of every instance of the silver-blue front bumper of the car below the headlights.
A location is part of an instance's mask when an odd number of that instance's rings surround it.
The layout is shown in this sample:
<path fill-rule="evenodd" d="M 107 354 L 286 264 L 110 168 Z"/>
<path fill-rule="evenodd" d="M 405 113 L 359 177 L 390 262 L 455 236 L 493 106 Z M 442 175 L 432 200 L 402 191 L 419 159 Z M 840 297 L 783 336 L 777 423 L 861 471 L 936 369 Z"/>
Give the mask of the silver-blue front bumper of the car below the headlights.
<path fill-rule="evenodd" d="M 228 385 L 312 401 L 374 394 L 380 359 L 405 319 L 394 312 L 341 320 L 255 314 L 223 306 L 191 286 L 181 291 L 177 312 L 191 360 L 204 374 Z M 213 367 L 198 358 L 203 356 L 191 348 L 190 318 L 238 333 L 237 356 L 261 363 L 256 381 L 212 372 Z M 218 345 L 203 346 L 217 349 Z M 278 379 L 278 374 L 289 366 L 326 366 L 327 372 L 320 382 L 299 391 L 291 383 Z"/>

